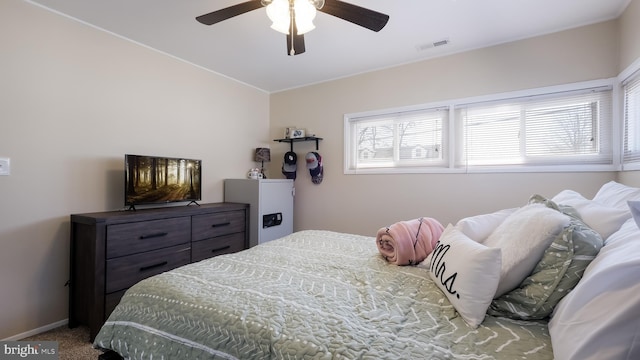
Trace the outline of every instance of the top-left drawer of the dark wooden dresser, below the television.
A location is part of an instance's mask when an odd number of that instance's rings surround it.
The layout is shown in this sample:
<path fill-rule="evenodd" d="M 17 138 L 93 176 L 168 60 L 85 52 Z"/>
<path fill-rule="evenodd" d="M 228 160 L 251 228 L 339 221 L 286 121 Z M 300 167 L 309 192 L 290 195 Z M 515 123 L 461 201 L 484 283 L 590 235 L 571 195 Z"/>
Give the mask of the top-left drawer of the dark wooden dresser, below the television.
<path fill-rule="evenodd" d="M 107 259 L 161 249 L 190 240 L 191 217 L 107 226 Z"/>

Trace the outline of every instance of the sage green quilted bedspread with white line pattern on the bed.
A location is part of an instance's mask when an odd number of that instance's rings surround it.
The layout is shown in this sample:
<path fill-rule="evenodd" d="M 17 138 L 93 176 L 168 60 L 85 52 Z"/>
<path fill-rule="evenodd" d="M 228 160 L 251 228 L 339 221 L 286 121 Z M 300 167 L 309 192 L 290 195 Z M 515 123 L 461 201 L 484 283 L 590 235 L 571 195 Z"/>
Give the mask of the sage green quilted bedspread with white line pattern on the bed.
<path fill-rule="evenodd" d="M 95 339 L 125 359 L 552 359 L 546 321 L 469 328 L 375 239 L 301 231 L 130 288 Z"/>

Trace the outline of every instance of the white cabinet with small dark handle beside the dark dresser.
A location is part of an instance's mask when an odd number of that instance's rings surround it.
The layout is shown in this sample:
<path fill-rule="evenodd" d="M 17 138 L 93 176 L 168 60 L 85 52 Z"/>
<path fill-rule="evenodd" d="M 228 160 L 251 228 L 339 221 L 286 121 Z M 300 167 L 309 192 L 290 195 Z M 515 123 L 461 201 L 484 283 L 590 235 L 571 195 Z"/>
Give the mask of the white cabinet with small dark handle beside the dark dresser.
<path fill-rule="evenodd" d="M 224 201 L 249 204 L 249 246 L 293 232 L 293 180 L 226 179 Z"/>

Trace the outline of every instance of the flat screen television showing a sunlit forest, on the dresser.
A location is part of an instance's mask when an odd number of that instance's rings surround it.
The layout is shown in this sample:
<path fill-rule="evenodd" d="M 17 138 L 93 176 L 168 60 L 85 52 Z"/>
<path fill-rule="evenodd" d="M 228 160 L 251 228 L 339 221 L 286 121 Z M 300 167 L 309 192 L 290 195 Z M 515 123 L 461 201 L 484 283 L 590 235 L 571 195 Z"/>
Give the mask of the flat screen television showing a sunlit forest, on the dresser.
<path fill-rule="evenodd" d="M 196 203 L 202 199 L 202 161 L 161 156 L 124 156 L 125 206 Z"/>

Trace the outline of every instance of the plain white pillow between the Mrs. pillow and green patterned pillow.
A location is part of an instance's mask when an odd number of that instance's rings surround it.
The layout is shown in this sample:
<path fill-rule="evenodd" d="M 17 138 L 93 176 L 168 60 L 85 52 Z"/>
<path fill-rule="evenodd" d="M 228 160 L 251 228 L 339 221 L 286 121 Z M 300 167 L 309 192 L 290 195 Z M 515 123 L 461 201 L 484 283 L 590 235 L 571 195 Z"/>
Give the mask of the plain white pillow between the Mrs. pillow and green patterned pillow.
<path fill-rule="evenodd" d="M 502 250 L 500 283 L 495 297 L 515 289 L 542 259 L 569 217 L 543 204 L 530 204 L 509 215 L 484 245 Z"/>

